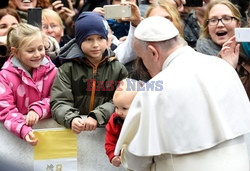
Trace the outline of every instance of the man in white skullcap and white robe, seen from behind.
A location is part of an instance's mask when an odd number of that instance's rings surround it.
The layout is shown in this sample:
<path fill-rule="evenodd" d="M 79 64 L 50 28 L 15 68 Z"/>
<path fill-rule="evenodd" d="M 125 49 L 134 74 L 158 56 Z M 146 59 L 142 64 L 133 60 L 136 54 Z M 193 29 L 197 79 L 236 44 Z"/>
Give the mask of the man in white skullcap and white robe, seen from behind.
<path fill-rule="evenodd" d="M 162 88 L 141 91 L 133 100 L 115 149 L 123 166 L 249 171 L 244 134 L 250 131 L 250 102 L 233 67 L 184 45 L 160 16 L 144 19 L 134 37 L 149 83 Z"/>

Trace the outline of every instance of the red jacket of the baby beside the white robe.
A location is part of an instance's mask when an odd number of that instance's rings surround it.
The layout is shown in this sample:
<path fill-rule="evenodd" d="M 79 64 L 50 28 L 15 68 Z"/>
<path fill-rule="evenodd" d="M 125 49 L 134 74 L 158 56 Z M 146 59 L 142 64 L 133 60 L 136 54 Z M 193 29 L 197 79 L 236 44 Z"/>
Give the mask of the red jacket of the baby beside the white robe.
<path fill-rule="evenodd" d="M 122 118 L 118 114 L 113 113 L 106 125 L 105 150 L 110 162 L 114 157 L 115 146 L 122 129 L 122 124 Z"/>

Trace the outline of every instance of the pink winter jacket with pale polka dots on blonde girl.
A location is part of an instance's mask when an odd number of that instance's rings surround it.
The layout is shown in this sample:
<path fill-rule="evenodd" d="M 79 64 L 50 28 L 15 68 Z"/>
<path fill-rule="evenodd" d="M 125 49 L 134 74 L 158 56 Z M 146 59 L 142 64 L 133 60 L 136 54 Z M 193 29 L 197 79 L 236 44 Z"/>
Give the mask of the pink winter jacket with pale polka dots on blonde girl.
<path fill-rule="evenodd" d="M 24 138 L 32 128 L 25 124 L 29 110 L 39 115 L 39 120 L 51 117 L 50 89 L 57 68 L 45 56 L 41 66 L 33 69 L 32 77 L 19 60 L 10 57 L 0 71 L 0 121 L 10 132 Z"/>

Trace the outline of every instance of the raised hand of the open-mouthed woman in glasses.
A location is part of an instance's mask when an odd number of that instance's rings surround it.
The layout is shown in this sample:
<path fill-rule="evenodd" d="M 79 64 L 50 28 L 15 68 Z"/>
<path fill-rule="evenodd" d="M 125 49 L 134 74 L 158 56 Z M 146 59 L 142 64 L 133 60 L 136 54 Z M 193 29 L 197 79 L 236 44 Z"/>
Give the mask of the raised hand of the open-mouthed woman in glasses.
<path fill-rule="evenodd" d="M 221 51 L 219 52 L 219 57 L 236 68 L 239 60 L 239 54 L 240 44 L 237 44 L 235 36 L 233 36 L 223 44 Z"/>

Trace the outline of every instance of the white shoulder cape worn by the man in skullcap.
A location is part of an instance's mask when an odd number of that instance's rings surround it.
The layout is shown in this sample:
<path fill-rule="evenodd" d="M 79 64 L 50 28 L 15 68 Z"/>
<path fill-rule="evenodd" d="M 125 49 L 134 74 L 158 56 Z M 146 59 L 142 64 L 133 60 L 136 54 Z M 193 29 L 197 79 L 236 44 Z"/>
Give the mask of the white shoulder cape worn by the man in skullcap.
<path fill-rule="evenodd" d="M 210 149 L 250 131 L 250 103 L 231 65 L 184 46 L 139 92 L 125 119 L 115 154 L 182 155 Z M 147 84 L 145 85 L 147 86 Z"/>

